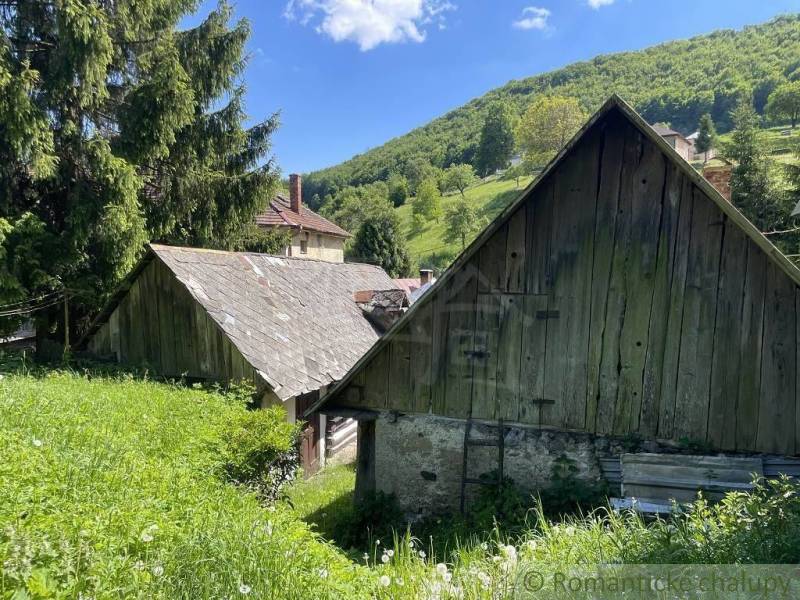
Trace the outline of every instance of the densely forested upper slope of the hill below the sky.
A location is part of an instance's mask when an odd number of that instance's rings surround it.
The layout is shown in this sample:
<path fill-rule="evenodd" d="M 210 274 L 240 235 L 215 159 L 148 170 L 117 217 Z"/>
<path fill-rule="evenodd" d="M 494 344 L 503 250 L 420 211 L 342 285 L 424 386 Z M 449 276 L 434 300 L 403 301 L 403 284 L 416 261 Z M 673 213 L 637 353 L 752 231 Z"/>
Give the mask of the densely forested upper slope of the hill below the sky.
<path fill-rule="evenodd" d="M 511 81 L 443 117 L 364 154 L 306 176 L 307 201 L 345 185 L 361 185 L 403 173 L 416 158 L 434 166 L 472 163 L 484 111 L 506 100 L 522 110 L 548 91 L 578 98 L 594 111 L 619 93 L 651 123 L 665 121 L 689 133 L 710 112 L 720 131 L 742 95 L 763 112 L 767 96 L 787 78 L 800 77 L 800 15 L 783 16 L 740 31 L 723 30 L 637 52 L 598 56 L 563 69 Z"/>

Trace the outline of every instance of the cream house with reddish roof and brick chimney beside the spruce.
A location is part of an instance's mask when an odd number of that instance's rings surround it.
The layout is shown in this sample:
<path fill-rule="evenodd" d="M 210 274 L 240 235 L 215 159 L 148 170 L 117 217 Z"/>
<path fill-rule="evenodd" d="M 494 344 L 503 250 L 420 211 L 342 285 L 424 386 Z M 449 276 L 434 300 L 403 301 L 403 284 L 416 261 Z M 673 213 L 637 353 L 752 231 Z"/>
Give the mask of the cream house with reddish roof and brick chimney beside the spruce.
<path fill-rule="evenodd" d="M 286 256 L 344 262 L 344 243 L 350 234 L 303 204 L 300 175 L 289 176 L 289 197 L 275 196 L 267 209 L 256 216 L 256 225 L 291 232 Z"/>

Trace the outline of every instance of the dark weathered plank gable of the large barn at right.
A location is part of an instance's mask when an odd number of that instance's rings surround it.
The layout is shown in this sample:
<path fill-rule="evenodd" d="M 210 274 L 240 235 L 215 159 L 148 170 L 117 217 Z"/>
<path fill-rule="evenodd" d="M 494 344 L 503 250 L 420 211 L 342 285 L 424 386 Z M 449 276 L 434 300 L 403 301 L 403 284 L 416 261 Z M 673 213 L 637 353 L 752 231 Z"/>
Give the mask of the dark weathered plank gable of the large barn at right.
<path fill-rule="evenodd" d="M 336 402 L 798 449 L 793 280 L 612 112 Z"/>

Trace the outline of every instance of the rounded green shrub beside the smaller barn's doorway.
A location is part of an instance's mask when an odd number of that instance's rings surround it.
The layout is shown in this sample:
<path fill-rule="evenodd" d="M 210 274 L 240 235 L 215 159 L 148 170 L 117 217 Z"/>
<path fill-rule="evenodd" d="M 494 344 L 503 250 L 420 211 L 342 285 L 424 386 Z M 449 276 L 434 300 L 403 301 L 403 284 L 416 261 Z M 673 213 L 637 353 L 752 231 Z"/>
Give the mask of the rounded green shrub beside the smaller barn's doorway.
<path fill-rule="evenodd" d="M 279 406 L 236 413 L 220 432 L 225 477 L 274 501 L 297 470 L 299 433 L 300 426 L 288 423 Z"/>

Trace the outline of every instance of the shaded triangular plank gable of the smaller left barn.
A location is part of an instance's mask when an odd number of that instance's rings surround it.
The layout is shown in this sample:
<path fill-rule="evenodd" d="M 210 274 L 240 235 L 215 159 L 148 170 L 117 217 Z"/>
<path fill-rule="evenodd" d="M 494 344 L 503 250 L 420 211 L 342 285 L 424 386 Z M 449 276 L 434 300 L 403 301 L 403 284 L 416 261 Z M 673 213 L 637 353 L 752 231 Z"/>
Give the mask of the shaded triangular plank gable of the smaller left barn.
<path fill-rule="evenodd" d="M 253 367 L 157 258 L 132 283 L 88 349 L 167 377 L 258 383 Z"/>

